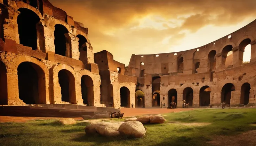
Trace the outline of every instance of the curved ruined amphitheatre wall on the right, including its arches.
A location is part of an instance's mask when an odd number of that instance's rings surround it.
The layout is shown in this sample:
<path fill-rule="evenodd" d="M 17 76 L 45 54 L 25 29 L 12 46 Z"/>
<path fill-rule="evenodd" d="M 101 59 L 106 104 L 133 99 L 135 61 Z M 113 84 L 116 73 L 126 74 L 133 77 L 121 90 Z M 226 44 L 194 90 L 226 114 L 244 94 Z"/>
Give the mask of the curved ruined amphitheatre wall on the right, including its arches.
<path fill-rule="evenodd" d="M 256 95 L 256 20 L 199 48 L 173 53 L 131 56 L 136 90 L 144 92 L 146 106 L 182 100 L 190 107 L 254 106 Z M 251 45 L 250 62 L 243 63 Z M 227 57 L 229 52 L 232 52 Z M 229 58 L 229 59 L 228 59 Z"/>

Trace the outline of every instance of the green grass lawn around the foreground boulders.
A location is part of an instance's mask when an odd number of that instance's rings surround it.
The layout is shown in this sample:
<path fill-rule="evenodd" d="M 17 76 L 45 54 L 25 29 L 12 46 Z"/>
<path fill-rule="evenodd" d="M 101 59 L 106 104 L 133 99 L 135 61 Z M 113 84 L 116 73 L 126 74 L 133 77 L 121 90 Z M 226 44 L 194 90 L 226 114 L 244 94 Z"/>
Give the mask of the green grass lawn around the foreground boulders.
<path fill-rule="evenodd" d="M 56 125 L 53 120 L 0 123 L 0 146 L 205 146 L 210 145 L 206 142 L 215 136 L 231 136 L 256 130 L 256 126 L 251 125 L 256 123 L 256 109 L 198 109 L 163 115 L 166 122 L 147 124 L 145 137 L 139 139 L 86 135 L 84 131 L 88 124 L 86 122 L 73 126 Z M 116 122 L 123 119 L 109 121 Z M 198 126 L 195 123 L 211 124 Z"/>

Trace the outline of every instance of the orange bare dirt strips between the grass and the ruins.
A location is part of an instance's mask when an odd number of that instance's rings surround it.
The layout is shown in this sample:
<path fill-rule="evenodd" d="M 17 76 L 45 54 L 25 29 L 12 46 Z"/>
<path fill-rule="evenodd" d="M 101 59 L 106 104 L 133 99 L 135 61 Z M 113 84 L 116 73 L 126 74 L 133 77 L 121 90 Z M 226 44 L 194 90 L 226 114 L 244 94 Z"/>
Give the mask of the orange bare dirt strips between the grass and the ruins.
<path fill-rule="evenodd" d="M 122 108 L 121 113 L 125 113 L 124 117 L 135 116 L 135 115 L 144 115 L 144 114 L 160 114 L 160 113 L 169 113 L 169 112 L 181 112 L 188 111 L 193 109 L 130 109 Z M 26 122 L 29 120 L 46 120 L 46 119 L 59 119 L 54 117 L 9 117 L 9 116 L 0 116 L 0 122 Z M 83 118 L 73 118 L 75 120 L 83 120 Z"/>

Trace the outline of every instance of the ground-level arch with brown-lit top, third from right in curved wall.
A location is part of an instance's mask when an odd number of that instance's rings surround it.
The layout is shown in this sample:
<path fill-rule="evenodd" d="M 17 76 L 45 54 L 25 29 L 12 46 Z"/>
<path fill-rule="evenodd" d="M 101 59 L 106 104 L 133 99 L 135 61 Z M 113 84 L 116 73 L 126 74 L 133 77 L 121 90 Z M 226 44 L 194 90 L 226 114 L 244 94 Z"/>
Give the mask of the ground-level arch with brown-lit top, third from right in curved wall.
<path fill-rule="evenodd" d="M 209 106 L 210 105 L 210 93 L 211 88 L 209 86 L 203 86 L 199 93 L 199 106 Z"/>

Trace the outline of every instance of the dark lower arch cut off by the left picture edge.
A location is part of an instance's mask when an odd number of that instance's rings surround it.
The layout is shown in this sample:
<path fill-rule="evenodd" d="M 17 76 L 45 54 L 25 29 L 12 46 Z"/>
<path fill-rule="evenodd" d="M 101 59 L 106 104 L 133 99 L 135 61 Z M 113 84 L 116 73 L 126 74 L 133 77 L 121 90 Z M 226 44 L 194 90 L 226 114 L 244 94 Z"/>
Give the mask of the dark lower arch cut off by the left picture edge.
<path fill-rule="evenodd" d="M 7 70 L 5 63 L 0 61 L 0 105 L 8 104 L 7 97 Z"/>

